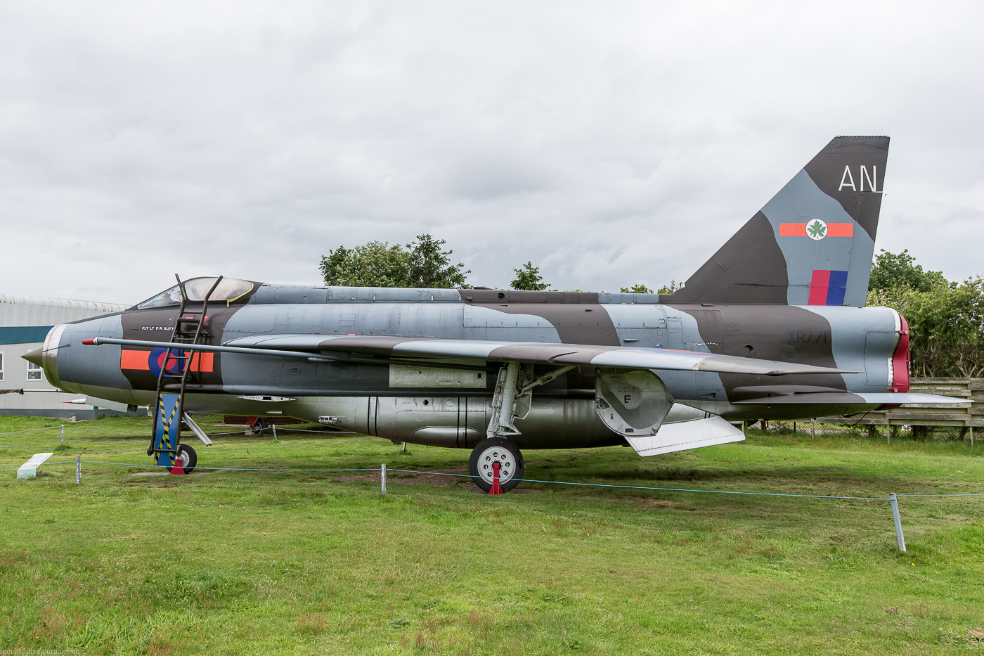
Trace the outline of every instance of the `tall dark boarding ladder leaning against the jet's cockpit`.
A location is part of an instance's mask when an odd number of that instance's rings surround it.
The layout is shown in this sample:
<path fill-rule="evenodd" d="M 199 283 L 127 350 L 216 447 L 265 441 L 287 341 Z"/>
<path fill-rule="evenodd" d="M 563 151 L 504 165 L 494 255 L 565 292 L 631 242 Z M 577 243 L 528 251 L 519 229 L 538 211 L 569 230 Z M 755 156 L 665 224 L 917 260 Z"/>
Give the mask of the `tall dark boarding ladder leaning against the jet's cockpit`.
<path fill-rule="evenodd" d="M 181 307 L 178 309 L 177 317 L 174 319 L 174 330 L 171 331 L 170 344 L 202 344 L 203 341 L 211 337 L 208 327 L 205 325 L 209 319 L 209 298 L 215 292 L 215 288 L 222 281 L 219 276 L 209 289 L 202 301 L 202 309 L 187 309 L 188 294 L 185 292 L 184 283 L 181 278 L 174 274 L 178 281 L 178 288 L 181 291 Z M 192 371 L 195 362 L 201 362 L 200 352 L 185 351 L 178 347 L 168 348 L 161 360 L 160 373 L 157 374 L 157 394 L 154 401 L 154 424 L 151 426 L 151 445 L 147 447 L 147 455 L 154 456 L 160 464 L 163 454 L 168 454 L 170 462 L 168 465 L 177 462 L 178 443 L 181 436 L 181 421 L 184 418 L 184 395 L 185 387 L 188 385 L 189 378 L 193 382 L 199 382 L 201 373 Z M 175 367 L 176 364 L 176 367 Z M 175 370 L 170 370 L 175 367 Z M 174 394 L 177 387 L 177 404 L 171 407 L 170 412 L 164 411 L 164 395 Z M 168 404 L 170 405 L 170 404 Z M 157 425 L 162 417 L 163 438 L 158 440 Z M 177 422 L 175 425 L 174 422 Z M 174 426 L 171 429 L 171 426 Z M 158 444 L 159 441 L 159 444 Z"/>

